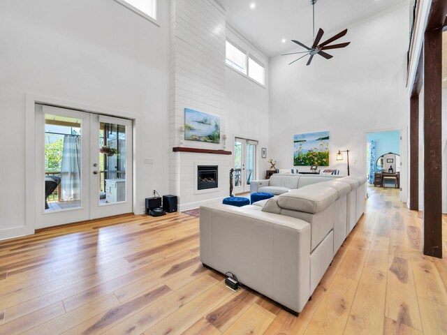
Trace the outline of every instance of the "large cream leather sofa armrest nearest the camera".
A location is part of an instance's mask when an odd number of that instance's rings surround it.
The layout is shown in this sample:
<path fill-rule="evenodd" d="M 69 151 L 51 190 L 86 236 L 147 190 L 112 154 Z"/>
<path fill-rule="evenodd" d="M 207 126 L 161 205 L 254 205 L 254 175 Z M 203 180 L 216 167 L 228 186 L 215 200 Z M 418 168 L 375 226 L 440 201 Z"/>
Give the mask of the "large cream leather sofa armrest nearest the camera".
<path fill-rule="evenodd" d="M 309 223 L 297 218 L 200 207 L 200 260 L 298 313 L 310 296 L 310 234 Z"/>

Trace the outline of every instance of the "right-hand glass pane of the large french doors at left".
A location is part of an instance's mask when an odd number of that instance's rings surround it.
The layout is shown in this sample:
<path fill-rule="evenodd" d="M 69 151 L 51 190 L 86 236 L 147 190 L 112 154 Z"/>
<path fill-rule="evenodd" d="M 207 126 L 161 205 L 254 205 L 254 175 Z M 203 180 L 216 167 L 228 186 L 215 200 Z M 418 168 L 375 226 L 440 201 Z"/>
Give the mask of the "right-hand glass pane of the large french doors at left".
<path fill-rule="evenodd" d="M 126 126 L 99 124 L 99 204 L 126 201 Z"/>

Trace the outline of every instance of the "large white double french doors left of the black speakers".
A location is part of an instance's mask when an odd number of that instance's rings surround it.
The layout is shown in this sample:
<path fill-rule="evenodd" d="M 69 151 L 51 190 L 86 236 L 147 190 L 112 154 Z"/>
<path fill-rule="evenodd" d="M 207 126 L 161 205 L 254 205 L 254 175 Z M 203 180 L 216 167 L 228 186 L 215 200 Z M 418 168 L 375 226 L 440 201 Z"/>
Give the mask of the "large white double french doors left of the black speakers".
<path fill-rule="evenodd" d="M 36 105 L 36 228 L 132 211 L 132 123 Z"/>

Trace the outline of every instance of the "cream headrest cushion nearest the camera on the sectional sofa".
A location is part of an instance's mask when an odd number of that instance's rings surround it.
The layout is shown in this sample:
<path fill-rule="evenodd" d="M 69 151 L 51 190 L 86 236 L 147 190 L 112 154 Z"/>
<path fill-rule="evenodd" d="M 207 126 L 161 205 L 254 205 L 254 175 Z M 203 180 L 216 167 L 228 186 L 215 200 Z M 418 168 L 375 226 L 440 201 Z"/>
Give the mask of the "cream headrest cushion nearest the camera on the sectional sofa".
<path fill-rule="evenodd" d="M 328 208 L 337 198 L 334 188 L 316 184 L 281 194 L 277 203 L 284 209 L 316 214 Z"/>

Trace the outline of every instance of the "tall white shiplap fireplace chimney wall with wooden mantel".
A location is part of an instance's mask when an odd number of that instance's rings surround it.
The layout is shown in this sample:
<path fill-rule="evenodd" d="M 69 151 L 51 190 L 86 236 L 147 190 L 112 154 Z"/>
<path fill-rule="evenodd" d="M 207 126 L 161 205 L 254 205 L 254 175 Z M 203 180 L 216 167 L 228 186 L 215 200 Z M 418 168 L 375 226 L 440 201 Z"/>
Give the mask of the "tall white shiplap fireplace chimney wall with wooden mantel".
<path fill-rule="evenodd" d="M 214 114 L 226 128 L 225 13 L 213 0 L 171 0 L 169 148 L 180 145 L 184 108 Z M 223 149 L 223 144 L 184 141 L 184 147 Z M 228 195 L 232 156 L 170 152 L 170 193 L 179 210 Z M 219 188 L 196 191 L 196 165 L 219 165 Z"/>

